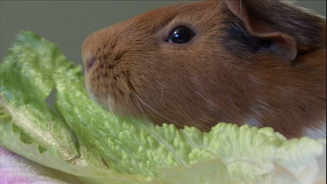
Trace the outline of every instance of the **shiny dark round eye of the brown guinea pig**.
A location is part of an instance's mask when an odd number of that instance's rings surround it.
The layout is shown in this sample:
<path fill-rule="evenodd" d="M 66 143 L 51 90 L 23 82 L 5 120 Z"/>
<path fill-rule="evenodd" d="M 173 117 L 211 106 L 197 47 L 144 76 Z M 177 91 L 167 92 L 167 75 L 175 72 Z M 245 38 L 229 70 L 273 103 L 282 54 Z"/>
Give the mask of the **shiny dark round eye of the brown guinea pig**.
<path fill-rule="evenodd" d="M 194 36 L 195 34 L 191 29 L 181 26 L 175 28 L 166 41 L 171 43 L 187 43 L 191 41 Z"/>

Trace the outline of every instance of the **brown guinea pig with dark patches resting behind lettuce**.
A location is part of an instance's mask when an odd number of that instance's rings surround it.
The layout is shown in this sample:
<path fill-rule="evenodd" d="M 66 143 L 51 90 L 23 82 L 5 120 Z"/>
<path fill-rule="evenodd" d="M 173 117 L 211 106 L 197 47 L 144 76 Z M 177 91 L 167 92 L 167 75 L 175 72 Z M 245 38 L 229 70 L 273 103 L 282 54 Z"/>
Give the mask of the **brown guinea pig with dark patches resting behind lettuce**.
<path fill-rule="evenodd" d="M 174 4 L 96 31 L 90 96 L 122 116 L 326 136 L 326 19 L 291 2 Z"/>

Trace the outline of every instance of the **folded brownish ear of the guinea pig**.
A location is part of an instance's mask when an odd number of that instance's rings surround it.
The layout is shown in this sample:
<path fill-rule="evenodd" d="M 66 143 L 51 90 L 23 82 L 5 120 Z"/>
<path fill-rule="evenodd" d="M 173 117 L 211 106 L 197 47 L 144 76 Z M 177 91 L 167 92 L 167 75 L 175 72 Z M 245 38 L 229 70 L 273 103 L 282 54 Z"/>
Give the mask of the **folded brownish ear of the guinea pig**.
<path fill-rule="evenodd" d="M 297 55 L 296 41 L 286 33 L 279 32 L 269 25 L 268 21 L 259 16 L 254 16 L 247 10 L 248 1 L 225 1 L 229 10 L 243 21 L 248 34 L 271 40 L 270 49 L 288 61 L 293 61 Z M 271 14 L 271 16 L 275 16 Z"/>

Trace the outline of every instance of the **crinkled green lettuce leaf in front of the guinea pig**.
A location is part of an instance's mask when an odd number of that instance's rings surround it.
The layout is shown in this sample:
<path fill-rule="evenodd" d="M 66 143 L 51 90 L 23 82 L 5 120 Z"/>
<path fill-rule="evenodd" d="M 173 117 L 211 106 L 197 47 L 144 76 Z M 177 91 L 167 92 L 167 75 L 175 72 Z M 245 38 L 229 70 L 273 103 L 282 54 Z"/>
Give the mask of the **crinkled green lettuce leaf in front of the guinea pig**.
<path fill-rule="evenodd" d="M 326 139 L 219 123 L 210 132 L 117 116 L 82 66 L 20 31 L 0 69 L 0 146 L 84 183 L 320 183 Z M 54 109 L 46 102 L 55 93 Z"/>

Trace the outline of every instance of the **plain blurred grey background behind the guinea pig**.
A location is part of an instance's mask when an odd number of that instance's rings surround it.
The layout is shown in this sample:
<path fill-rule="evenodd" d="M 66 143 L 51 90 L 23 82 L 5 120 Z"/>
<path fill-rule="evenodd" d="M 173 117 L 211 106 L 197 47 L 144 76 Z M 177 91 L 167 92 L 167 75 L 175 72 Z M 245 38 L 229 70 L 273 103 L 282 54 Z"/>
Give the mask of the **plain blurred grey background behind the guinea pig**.
<path fill-rule="evenodd" d="M 0 60 L 19 30 L 56 42 L 82 64 L 81 45 L 91 32 L 177 1 L 0 1 Z M 182 1 L 180 1 L 182 2 Z M 326 16 L 326 1 L 297 1 Z"/>

